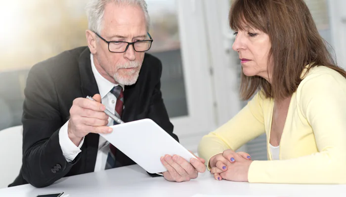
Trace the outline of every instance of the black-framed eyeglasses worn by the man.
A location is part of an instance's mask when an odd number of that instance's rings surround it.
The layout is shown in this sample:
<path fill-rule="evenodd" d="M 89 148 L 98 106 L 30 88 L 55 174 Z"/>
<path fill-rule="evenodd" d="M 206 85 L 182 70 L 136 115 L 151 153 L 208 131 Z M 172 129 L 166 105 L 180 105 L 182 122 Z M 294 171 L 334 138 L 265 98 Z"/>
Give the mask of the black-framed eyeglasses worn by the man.
<path fill-rule="evenodd" d="M 128 50 L 130 45 L 133 45 L 133 49 L 136 52 L 145 52 L 150 49 L 151 43 L 154 41 L 153 38 L 151 38 L 149 33 L 147 34 L 150 40 L 138 40 L 135 42 L 107 41 L 106 39 L 101 37 L 99 34 L 97 33 L 95 34 L 108 44 L 108 50 L 112 53 L 124 53 L 125 51 Z"/>

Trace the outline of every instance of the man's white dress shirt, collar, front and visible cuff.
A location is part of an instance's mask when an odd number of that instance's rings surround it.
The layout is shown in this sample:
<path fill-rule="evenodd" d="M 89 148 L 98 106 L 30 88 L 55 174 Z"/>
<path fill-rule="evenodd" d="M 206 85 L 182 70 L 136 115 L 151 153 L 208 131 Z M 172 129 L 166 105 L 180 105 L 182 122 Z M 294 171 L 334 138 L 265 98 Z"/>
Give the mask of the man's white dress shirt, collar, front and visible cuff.
<path fill-rule="evenodd" d="M 90 54 L 90 61 L 91 61 L 91 69 L 96 79 L 99 93 L 101 95 L 101 103 L 104 104 L 106 108 L 114 114 L 117 98 L 112 93 L 110 93 L 110 91 L 113 89 L 113 87 L 118 86 L 118 84 L 114 84 L 108 81 L 97 71 L 94 65 L 92 54 Z M 123 90 L 124 90 L 124 86 L 123 85 L 121 86 L 123 87 Z M 90 95 L 90 96 L 92 97 L 93 95 Z M 60 143 L 61 150 L 66 161 L 72 162 L 77 157 L 77 155 L 81 152 L 81 147 L 84 142 L 84 137 L 81 143 L 79 144 L 79 146 L 77 147 L 68 137 L 68 133 L 67 133 L 68 123 L 69 121 L 67 121 L 61 127 L 59 131 L 59 143 Z M 113 120 L 111 118 L 108 118 L 107 126 L 112 126 L 112 125 L 113 125 Z M 108 151 L 109 151 L 109 142 L 105 138 L 100 136 L 99 142 L 98 142 L 98 151 L 97 151 L 94 171 L 104 170 L 106 166 L 107 157 L 108 157 Z"/>

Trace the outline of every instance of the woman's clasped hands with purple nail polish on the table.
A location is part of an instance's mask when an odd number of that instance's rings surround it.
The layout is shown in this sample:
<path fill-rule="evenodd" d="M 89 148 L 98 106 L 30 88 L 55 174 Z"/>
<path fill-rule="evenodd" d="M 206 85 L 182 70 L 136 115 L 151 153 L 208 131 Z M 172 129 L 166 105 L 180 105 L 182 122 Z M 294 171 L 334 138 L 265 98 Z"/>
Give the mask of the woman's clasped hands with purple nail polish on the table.
<path fill-rule="evenodd" d="M 245 152 L 234 152 L 231 149 L 213 156 L 210 161 L 211 173 L 216 180 L 248 181 L 248 171 L 252 163 Z"/>

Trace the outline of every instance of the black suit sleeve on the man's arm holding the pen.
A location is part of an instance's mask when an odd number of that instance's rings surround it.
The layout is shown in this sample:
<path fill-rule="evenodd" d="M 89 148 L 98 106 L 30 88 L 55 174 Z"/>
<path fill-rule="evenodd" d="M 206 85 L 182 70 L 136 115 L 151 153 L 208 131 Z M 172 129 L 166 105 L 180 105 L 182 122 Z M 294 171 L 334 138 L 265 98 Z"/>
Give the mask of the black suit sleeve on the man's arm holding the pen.
<path fill-rule="evenodd" d="M 68 163 L 62 153 L 59 130 L 64 122 L 55 84 L 44 65 L 32 67 L 24 94 L 22 174 L 31 185 L 46 187 L 64 177 L 81 154 Z"/>

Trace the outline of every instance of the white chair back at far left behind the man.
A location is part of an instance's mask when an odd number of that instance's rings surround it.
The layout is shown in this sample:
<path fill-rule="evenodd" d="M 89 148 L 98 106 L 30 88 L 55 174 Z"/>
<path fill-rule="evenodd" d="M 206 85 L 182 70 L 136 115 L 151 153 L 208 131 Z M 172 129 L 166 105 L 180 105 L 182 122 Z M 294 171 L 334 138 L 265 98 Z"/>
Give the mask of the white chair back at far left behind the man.
<path fill-rule="evenodd" d="M 23 127 L 0 131 L 0 188 L 7 187 L 19 174 L 22 165 Z"/>

